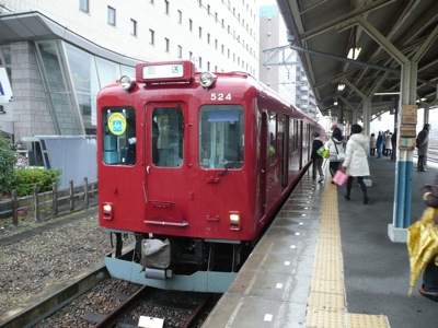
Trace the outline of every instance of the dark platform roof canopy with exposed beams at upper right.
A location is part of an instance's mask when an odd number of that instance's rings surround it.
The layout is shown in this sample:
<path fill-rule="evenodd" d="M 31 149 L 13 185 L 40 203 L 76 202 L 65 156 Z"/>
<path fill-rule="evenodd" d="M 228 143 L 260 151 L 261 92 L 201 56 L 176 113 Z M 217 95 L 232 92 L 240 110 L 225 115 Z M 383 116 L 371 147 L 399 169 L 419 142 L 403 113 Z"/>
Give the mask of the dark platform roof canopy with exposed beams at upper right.
<path fill-rule="evenodd" d="M 425 104 L 437 105 L 437 0 L 277 3 L 289 44 L 300 54 L 323 115 L 348 118 L 348 112 L 358 109 L 360 117 L 364 95 L 373 95 L 373 117 L 393 109 L 399 104 L 401 58 L 412 61 L 419 52 L 424 55 L 417 60 L 417 97 Z M 356 60 L 347 57 L 351 48 L 360 49 Z M 343 91 L 338 90 L 339 84 L 346 85 Z"/>

